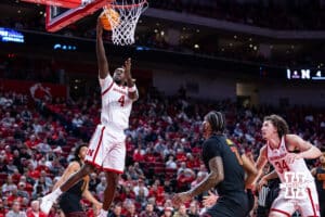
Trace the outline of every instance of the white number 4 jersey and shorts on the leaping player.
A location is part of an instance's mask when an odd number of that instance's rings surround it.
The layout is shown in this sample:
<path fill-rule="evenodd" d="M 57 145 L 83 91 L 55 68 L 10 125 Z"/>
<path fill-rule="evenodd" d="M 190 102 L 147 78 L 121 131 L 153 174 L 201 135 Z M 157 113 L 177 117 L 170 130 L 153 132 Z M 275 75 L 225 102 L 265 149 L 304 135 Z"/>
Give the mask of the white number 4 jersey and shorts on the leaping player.
<path fill-rule="evenodd" d="M 100 85 L 101 124 L 90 140 L 86 162 L 105 171 L 122 174 L 126 158 L 125 129 L 129 127 L 133 101 L 128 97 L 128 88 L 114 82 L 109 74 L 105 79 L 100 78 Z"/>

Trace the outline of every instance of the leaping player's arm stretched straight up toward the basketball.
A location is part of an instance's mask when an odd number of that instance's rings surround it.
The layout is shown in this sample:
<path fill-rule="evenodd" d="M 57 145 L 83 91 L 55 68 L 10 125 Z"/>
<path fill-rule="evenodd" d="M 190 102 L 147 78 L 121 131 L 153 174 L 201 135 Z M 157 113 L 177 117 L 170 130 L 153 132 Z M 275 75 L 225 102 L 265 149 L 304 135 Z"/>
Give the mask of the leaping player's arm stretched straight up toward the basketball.
<path fill-rule="evenodd" d="M 98 18 L 96 25 L 96 55 L 98 55 L 98 65 L 99 65 L 99 74 L 101 79 L 105 79 L 108 71 L 108 62 L 105 54 L 105 48 L 103 42 L 103 24 Z"/>

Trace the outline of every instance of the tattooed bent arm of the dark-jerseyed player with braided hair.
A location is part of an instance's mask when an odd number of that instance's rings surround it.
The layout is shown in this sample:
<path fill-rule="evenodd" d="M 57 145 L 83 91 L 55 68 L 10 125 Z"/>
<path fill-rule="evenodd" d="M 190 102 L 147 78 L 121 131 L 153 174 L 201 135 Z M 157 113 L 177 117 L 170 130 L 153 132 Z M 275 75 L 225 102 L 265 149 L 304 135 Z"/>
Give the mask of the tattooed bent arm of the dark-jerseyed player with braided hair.
<path fill-rule="evenodd" d="M 198 186 L 190 191 L 179 193 L 172 199 L 176 205 L 180 205 L 181 203 L 191 200 L 193 196 L 210 190 L 224 179 L 223 163 L 220 156 L 212 157 L 209 161 L 209 167 L 210 174 Z"/>

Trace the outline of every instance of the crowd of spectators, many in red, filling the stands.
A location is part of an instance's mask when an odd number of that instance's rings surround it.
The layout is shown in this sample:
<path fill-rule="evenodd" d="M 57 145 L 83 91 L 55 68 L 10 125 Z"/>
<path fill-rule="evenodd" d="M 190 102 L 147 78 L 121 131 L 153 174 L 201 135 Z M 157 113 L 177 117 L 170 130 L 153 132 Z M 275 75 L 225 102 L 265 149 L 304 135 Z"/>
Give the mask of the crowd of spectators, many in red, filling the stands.
<path fill-rule="evenodd" d="M 31 216 L 38 199 L 51 188 L 72 161 L 78 144 L 89 141 L 100 122 L 99 95 L 79 100 L 49 99 L 37 103 L 30 95 L 0 92 L 0 217 Z M 256 159 L 263 144 L 262 117 L 284 116 L 290 131 L 325 151 L 325 116 L 312 107 L 259 108 L 237 106 L 230 100 L 196 103 L 185 92 L 172 98 L 152 88 L 134 104 L 127 133 L 127 167 L 120 177 L 110 216 L 198 216 L 202 196 L 176 208 L 174 192 L 199 183 L 207 170 L 199 154 L 200 125 L 208 111 L 221 110 L 227 136 Z M 317 161 L 308 162 L 310 167 Z M 104 174 L 91 174 L 89 190 L 103 199 Z M 93 210 L 82 202 L 88 216 Z M 40 216 L 43 214 L 40 214 Z M 60 216 L 54 206 L 50 217 Z"/>

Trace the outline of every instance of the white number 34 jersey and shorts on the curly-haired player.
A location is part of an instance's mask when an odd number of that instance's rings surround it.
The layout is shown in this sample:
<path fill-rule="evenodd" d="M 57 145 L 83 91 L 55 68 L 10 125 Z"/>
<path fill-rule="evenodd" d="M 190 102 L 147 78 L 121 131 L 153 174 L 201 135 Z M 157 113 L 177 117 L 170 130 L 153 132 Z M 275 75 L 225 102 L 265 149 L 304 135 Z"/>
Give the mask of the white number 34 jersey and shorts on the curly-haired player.
<path fill-rule="evenodd" d="M 282 186 L 284 186 L 284 188 L 281 189 L 278 196 L 274 200 L 271 210 L 287 215 L 288 217 L 290 217 L 295 213 L 295 210 L 299 210 L 299 213 L 303 217 L 320 217 L 318 195 L 314 178 L 308 169 L 303 158 L 295 159 L 292 164 L 289 164 L 288 153 L 289 152 L 287 151 L 285 144 L 285 137 L 281 139 L 281 144 L 277 149 L 272 150 L 269 143 L 266 145 L 268 159 L 275 168 L 278 178 L 281 179 Z M 297 199 L 294 196 L 295 194 L 290 194 L 290 196 L 288 197 L 288 191 L 286 190 L 286 188 L 289 188 L 290 186 L 287 184 L 288 180 L 290 179 L 286 177 L 286 173 L 288 171 L 303 174 L 302 183 L 299 183 L 299 181 L 301 180 L 296 180 L 296 183 L 298 183 L 299 186 L 306 184 L 306 188 L 303 188 L 306 196 L 303 199 Z M 295 193 L 295 191 L 291 192 Z"/>

